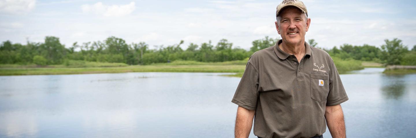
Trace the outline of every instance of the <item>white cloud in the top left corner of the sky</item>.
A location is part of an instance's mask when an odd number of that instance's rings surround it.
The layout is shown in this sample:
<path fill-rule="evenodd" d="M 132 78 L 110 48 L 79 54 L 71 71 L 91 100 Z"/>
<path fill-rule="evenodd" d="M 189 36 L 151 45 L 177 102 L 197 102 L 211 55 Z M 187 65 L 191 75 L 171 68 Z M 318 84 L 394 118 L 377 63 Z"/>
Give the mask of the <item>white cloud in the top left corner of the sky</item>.
<path fill-rule="evenodd" d="M 0 12 L 25 14 L 35 8 L 36 0 L 0 0 Z"/>

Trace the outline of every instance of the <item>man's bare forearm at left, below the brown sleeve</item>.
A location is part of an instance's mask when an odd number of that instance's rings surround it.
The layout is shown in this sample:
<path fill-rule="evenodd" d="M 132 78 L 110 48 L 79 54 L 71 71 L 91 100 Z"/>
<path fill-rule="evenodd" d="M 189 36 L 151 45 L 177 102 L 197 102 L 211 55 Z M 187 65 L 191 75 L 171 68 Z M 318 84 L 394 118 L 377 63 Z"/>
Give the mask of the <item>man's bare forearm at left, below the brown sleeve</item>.
<path fill-rule="evenodd" d="M 248 138 L 253 125 L 254 113 L 254 110 L 238 106 L 237 117 L 235 118 L 235 138 Z"/>

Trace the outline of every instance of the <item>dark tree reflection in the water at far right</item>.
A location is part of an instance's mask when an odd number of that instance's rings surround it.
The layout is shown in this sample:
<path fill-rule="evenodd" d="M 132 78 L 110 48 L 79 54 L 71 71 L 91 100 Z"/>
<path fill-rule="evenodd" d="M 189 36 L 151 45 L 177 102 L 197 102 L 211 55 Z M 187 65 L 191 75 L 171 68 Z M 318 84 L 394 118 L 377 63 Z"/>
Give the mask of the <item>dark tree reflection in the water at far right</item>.
<path fill-rule="evenodd" d="M 406 92 L 404 75 L 383 75 L 381 91 L 386 99 L 400 99 Z"/>

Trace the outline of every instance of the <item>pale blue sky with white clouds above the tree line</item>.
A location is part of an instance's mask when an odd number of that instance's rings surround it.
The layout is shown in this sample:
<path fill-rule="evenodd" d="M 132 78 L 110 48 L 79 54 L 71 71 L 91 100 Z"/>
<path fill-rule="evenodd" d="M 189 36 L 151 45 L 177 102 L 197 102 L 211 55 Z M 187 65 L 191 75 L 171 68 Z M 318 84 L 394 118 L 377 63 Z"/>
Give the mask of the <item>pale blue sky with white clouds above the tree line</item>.
<path fill-rule="evenodd" d="M 302 0 L 311 25 L 305 39 L 317 46 L 381 46 L 399 38 L 416 45 L 415 0 Z M 128 44 L 201 44 L 228 39 L 249 49 L 275 29 L 281 0 L 0 0 L 0 41 L 26 44 L 56 36 L 74 42 L 119 37 Z"/>

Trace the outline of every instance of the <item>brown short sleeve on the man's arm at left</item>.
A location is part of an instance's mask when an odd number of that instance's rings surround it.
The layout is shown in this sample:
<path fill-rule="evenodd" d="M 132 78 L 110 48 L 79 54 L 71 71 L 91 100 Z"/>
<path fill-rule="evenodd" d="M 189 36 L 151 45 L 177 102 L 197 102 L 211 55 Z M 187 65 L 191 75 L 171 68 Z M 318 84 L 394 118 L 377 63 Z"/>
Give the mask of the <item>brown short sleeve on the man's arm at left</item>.
<path fill-rule="evenodd" d="M 231 102 L 248 110 L 255 110 L 258 97 L 259 75 L 258 70 L 250 61 L 245 66 L 243 77 L 241 77 L 233 100 Z"/>

